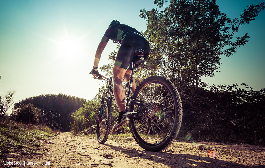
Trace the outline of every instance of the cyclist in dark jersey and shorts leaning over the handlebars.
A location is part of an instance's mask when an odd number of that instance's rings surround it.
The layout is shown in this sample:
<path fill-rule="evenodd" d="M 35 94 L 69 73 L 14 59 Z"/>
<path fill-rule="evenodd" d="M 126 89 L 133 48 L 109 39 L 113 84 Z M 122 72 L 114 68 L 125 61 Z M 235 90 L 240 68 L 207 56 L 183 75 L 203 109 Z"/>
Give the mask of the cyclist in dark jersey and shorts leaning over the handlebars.
<path fill-rule="evenodd" d="M 120 21 L 113 20 L 105 31 L 103 38 L 101 39 L 95 54 L 94 66 L 90 74 L 94 75 L 94 78 L 100 76 L 98 72 L 98 63 L 108 40 L 111 39 L 113 43 L 120 44 L 119 51 L 117 53 L 114 66 L 113 66 L 113 94 L 119 109 L 119 115 L 116 124 L 112 128 L 113 133 L 116 128 L 119 130 L 123 125 L 129 123 L 129 117 L 125 111 L 125 91 L 122 86 L 123 79 L 126 81 L 130 80 L 132 70 L 132 59 L 134 52 L 137 49 L 143 49 L 144 58 L 146 59 L 149 55 L 150 47 L 148 41 L 143 35 L 136 29 L 120 24 Z M 135 65 L 138 67 L 139 65 Z M 135 80 L 133 79 L 132 92 L 134 93 L 136 88 Z"/>

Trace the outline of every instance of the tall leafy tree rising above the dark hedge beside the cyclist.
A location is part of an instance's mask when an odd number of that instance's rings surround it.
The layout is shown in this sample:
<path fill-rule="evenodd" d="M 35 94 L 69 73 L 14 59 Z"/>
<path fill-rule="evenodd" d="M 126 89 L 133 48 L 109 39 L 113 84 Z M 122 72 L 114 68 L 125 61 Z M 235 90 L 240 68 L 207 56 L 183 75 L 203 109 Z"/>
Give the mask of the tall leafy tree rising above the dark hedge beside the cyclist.
<path fill-rule="evenodd" d="M 154 3 L 164 6 L 163 0 Z M 264 3 L 247 6 L 240 19 L 233 20 L 221 13 L 216 0 L 171 0 L 164 11 L 141 10 L 140 16 L 147 21 L 144 35 L 151 43 L 150 57 L 158 65 L 153 72 L 178 86 L 204 86 L 201 77 L 214 76 L 221 64 L 220 56 L 231 56 L 248 42 L 248 33 L 236 40 L 235 34 L 262 9 Z"/>

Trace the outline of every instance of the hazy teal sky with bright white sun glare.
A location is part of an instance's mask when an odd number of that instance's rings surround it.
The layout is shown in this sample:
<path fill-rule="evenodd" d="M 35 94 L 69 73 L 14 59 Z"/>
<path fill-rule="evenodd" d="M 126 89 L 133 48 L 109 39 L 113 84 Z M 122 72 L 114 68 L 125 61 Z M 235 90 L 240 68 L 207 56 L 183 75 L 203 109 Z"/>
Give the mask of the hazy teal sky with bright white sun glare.
<path fill-rule="evenodd" d="M 15 102 L 40 94 L 69 94 L 92 99 L 100 80 L 89 72 L 95 51 L 109 23 L 115 19 L 139 31 L 146 30 L 140 9 L 157 8 L 143 1 L 1 1 L 0 0 L 0 94 L 16 90 Z M 264 1 L 217 1 L 232 19 L 243 7 Z M 255 90 L 265 88 L 265 11 L 238 37 L 249 33 L 249 42 L 230 57 L 222 56 L 209 84 L 246 83 Z M 108 42 L 99 66 L 108 63 L 116 44 Z"/>

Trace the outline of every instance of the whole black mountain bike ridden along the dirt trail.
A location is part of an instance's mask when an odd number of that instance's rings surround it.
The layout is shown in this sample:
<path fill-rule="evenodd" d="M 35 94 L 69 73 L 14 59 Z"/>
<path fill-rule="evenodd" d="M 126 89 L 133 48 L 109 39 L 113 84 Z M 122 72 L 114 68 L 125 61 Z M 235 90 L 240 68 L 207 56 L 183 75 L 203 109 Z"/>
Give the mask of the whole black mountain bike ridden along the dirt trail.
<path fill-rule="evenodd" d="M 135 141 L 145 150 L 161 151 L 176 138 L 182 122 L 182 103 L 174 84 L 162 76 L 144 79 L 131 94 L 135 64 L 143 62 L 144 51 L 135 51 L 130 80 L 123 87 L 126 90 L 126 112 L 129 127 Z M 103 92 L 96 125 L 98 142 L 104 144 L 111 131 L 112 78 L 101 75 L 97 79 L 108 81 Z"/>

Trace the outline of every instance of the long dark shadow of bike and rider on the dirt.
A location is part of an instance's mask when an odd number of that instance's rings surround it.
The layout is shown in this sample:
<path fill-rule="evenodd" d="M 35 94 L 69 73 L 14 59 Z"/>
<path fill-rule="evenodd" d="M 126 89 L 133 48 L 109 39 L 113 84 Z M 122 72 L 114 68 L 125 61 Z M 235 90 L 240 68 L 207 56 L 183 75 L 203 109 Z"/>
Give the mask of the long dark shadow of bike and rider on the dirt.
<path fill-rule="evenodd" d="M 129 155 L 131 158 L 140 156 L 139 154 L 142 151 L 136 150 L 131 152 L 132 148 L 124 148 L 112 146 L 110 144 L 104 144 L 105 146 L 111 147 L 111 149 L 115 151 L 123 152 L 126 155 Z M 189 154 L 180 154 L 180 153 L 167 153 L 167 152 L 152 152 L 145 151 L 143 152 L 143 159 L 147 159 L 149 161 L 154 161 L 157 163 L 164 164 L 170 167 L 181 167 L 181 168 L 189 168 L 189 167 L 205 167 L 205 168 L 215 168 L 215 167 L 237 167 L 237 168 L 261 168 L 264 165 L 258 166 L 246 166 L 235 162 L 219 160 L 211 157 L 203 157 Z"/>

